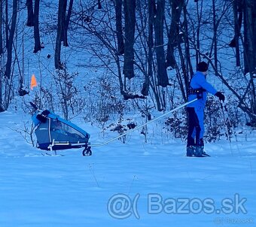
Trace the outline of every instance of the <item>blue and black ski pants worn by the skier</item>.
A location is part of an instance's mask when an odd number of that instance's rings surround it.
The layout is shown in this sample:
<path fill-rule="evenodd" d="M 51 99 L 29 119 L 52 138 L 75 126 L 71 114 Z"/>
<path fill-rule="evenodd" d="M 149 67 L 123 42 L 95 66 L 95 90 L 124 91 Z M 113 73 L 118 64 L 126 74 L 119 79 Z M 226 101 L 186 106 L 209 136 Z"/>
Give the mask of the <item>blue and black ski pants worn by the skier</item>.
<path fill-rule="evenodd" d="M 187 107 L 187 113 L 187 147 L 190 145 L 203 146 L 203 107 Z"/>

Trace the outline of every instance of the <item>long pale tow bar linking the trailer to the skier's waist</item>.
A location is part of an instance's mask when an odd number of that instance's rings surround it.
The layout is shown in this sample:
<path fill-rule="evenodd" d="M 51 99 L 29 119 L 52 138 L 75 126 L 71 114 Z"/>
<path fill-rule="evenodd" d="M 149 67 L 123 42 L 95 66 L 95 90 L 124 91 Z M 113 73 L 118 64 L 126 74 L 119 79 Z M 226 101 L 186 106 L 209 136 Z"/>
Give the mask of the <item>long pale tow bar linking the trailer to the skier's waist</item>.
<path fill-rule="evenodd" d="M 103 146 L 103 145 L 105 145 L 105 144 L 109 144 L 111 141 L 115 141 L 115 140 L 117 140 L 118 138 L 122 137 L 123 135 L 127 135 L 127 134 L 130 133 L 130 132 L 134 132 L 134 131 L 136 131 L 137 129 L 141 129 L 141 128 L 144 127 L 144 126 L 147 126 L 148 124 L 153 123 L 154 121 L 159 120 L 159 119 L 162 118 L 162 117 L 165 117 L 165 116 L 168 115 L 169 113 L 172 113 L 172 112 L 174 112 L 175 110 L 178 110 L 178 109 L 180 109 L 180 108 L 186 106 L 187 104 L 190 104 L 190 103 L 192 103 L 192 102 L 194 102 L 194 101 L 197 101 L 197 99 L 198 99 L 198 98 L 195 98 L 195 99 L 193 99 L 193 100 L 191 100 L 191 101 L 187 101 L 186 103 L 181 104 L 181 105 L 178 106 L 178 107 L 175 107 L 174 109 L 170 110 L 169 112 L 163 113 L 163 115 L 154 118 L 153 120 L 149 121 L 148 123 L 145 123 L 145 124 L 143 124 L 142 126 L 137 126 L 137 127 L 135 127 L 134 129 L 130 129 L 129 131 L 127 131 L 127 132 L 125 132 L 125 133 L 123 133 L 123 134 L 121 134 L 121 135 L 118 135 L 117 137 L 112 138 L 112 139 L 109 140 L 109 141 L 105 141 L 105 142 L 102 143 L 102 144 L 90 144 L 90 147 L 101 147 L 101 146 Z"/>

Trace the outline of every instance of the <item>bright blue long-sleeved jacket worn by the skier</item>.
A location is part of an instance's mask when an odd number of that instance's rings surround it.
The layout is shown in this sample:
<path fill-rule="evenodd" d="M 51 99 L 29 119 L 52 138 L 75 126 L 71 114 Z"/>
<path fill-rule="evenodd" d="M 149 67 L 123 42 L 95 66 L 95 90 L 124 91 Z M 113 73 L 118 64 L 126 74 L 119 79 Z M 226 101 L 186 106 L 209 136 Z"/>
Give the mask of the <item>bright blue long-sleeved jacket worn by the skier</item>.
<path fill-rule="evenodd" d="M 204 91 L 203 94 L 201 95 L 202 98 L 187 105 L 187 107 L 194 107 L 197 109 L 198 108 L 203 109 L 206 106 L 207 92 L 211 93 L 212 95 L 215 95 L 217 92 L 217 90 L 210 83 L 206 81 L 206 76 L 200 71 L 197 71 L 192 77 L 190 81 L 190 88 L 206 89 L 206 91 Z M 188 95 L 188 101 L 192 101 L 195 98 L 197 98 L 197 94 Z"/>

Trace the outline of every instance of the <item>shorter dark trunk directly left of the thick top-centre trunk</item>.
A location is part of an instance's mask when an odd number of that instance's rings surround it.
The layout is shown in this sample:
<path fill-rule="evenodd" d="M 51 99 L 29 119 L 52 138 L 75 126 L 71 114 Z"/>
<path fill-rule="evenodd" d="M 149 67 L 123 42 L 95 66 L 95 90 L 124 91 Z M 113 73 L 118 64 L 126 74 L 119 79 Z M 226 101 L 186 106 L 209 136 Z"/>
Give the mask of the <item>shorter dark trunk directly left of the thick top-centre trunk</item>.
<path fill-rule="evenodd" d="M 124 53 L 123 26 L 122 26 L 122 0 L 115 0 L 115 26 L 117 29 L 117 53 Z"/>

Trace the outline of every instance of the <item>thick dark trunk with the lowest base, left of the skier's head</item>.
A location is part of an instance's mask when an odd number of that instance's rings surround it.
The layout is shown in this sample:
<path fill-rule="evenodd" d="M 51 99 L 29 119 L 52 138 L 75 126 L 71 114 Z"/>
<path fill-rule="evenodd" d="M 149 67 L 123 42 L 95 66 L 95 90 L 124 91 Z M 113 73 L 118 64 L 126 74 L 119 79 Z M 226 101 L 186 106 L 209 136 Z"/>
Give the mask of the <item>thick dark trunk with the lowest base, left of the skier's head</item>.
<path fill-rule="evenodd" d="M 157 54 L 157 80 L 158 85 L 166 87 L 169 80 L 166 72 L 166 61 L 163 49 L 163 19 L 164 19 L 165 1 L 157 0 L 157 11 L 154 20 L 155 44 Z"/>

